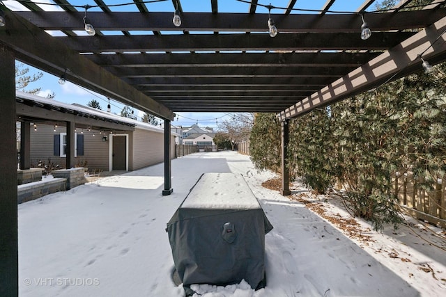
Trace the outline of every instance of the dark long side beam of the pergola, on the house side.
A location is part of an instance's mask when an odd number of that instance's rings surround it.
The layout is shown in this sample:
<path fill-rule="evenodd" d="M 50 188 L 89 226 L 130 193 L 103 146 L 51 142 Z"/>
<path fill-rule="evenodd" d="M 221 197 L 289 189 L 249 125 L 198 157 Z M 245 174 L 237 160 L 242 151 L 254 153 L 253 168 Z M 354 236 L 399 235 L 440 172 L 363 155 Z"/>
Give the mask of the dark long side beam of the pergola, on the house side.
<path fill-rule="evenodd" d="M 33 24 L 6 12 L 7 29 L 0 30 L 0 42 L 17 51 L 17 58 L 40 69 L 53 70 L 54 75 L 61 75 L 64 67 L 68 69 L 66 78 L 81 86 L 90 88 L 102 95 L 113 97 L 123 104 L 138 106 L 160 118 L 174 118 L 166 106 L 155 102 L 110 72 L 80 56 L 61 40 L 52 38 Z M 58 70 L 56 72 L 56 70 Z"/>

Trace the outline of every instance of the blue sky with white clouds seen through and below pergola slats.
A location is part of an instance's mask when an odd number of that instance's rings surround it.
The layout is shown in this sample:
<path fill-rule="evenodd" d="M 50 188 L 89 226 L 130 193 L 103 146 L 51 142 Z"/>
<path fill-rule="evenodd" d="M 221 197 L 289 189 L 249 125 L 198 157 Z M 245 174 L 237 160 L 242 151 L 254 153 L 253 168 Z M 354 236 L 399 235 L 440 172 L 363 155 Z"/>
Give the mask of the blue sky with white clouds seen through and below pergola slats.
<path fill-rule="evenodd" d="M 52 3 L 51 0 L 36 0 L 38 3 Z M 122 3 L 133 3 L 131 0 L 104 0 L 107 5 L 113 4 L 122 4 Z M 314 9 L 320 10 L 325 4 L 326 0 L 298 0 L 295 8 L 302 9 Z M 330 8 L 330 10 L 334 11 L 355 11 L 358 7 L 362 5 L 364 0 L 337 0 L 334 3 L 334 6 Z M 377 1 L 380 2 L 380 1 Z M 20 3 L 17 1 L 7 0 L 3 3 L 8 6 L 11 10 L 26 10 Z M 86 4 L 95 6 L 96 3 L 92 0 L 70 0 L 72 5 L 84 6 Z M 271 3 L 272 6 L 275 7 L 286 7 L 289 3 L 289 0 L 260 0 L 259 3 L 263 5 L 268 5 Z M 181 5 L 183 8 L 183 12 L 210 12 L 210 0 L 206 1 L 197 1 L 197 0 L 182 0 Z M 174 5 L 171 0 L 156 2 L 156 3 L 146 3 L 149 11 L 174 11 Z M 21 8 L 22 7 L 22 8 Z M 45 10 L 56 10 L 56 6 L 41 6 Z M 78 8 L 82 10 L 82 8 Z M 137 11 L 136 6 L 116 6 L 110 8 L 112 11 Z M 373 6 L 372 6 L 373 9 Z M 89 11 L 100 10 L 100 8 L 91 8 Z M 246 13 L 249 10 L 249 3 L 243 3 L 236 0 L 220 0 L 218 1 L 218 10 L 221 13 Z M 264 10 L 264 11 L 263 11 Z M 268 10 L 263 7 L 257 8 L 258 13 L 268 13 Z M 274 13 L 284 13 L 284 10 L 274 9 L 271 11 Z M 294 11 L 293 13 L 304 13 L 301 11 Z M 163 32 L 164 33 L 164 32 Z M 181 33 L 180 31 L 171 31 L 165 33 Z M 56 33 L 53 33 L 57 35 Z M 79 35 L 84 35 L 84 32 L 79 32 Z M 24 65 L 24 67 L 30 67 L 32 72 L 37 72 L 40 70 L 36 70 L 35 68 Z M 86 105 L 92 99 L 95 99 L 100 103 L 102 110 L 107 109 L 108 100 L 105 96 L 99 95 L 97 93 L 93 93 L 90 90 L 86 90 L 81 88 L 73 83 L 67 81 L 64 85 L 60 85 L 58 83 L 59 77 L 55 77 L 52 74 L 43 72 L 43 78 L 36 81 L 35 83 L 31 83 L 29 88 L 42 88 L 42 91 L 39 95 L 46 97 L 49 93 L 54 93 L 56 97 L 55 100 L 65 102 L 68 104 L 78 103 Z M 112 113 L 121 113 L 123 109 L 123 104 L 111 100 Z M 139 116 L 142 115 L 141 112 L 135 110 L 135 113 Z M 182 126 L 190 126 L 192 124 L 197 124 L 200 127 L 217 127 L 217 122 L 223 122 L 226 119 L 231 118 L 231 115 L 227 113 L 177 113 L 178 120 L 175 118 L 173 125 L 182 125 Z"/>

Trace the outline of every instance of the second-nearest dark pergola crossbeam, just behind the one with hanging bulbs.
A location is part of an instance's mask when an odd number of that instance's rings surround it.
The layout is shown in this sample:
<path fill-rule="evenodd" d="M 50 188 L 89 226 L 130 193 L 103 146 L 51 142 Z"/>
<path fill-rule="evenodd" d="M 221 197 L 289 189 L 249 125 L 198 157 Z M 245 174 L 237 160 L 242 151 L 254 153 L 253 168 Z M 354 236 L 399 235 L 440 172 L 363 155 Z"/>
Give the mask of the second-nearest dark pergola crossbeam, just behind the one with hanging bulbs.
<path fill-rule="evenodd" d="M 81 53 L 129 51 L 299 51 L 299 50 L 387 50 L 413 32 L 374 32 L 362 40 L 358 33 L 287 33 L 272 42 L 268 34 L 197 34 L 58 37 Z"/>

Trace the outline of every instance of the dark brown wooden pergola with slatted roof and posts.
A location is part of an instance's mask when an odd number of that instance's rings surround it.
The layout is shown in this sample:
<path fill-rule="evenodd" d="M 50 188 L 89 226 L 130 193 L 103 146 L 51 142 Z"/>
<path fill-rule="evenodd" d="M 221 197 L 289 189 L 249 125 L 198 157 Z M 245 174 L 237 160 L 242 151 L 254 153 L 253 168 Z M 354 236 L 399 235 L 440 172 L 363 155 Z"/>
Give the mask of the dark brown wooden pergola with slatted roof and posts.
<path fill-rule="evenodd" d="M 1 296 L 17 296 L 19 285 L 15 60 L 164 119 L 164 195 L 172 192 L 169 127 L 175 112 L 277 113 L 287 195 L 291 118 L 420 71 L 423 61 L 446 59 L 446 1 L 414 6 L 402 0 L 379 13 L 372 11 L 375 0 L 351 12 L 337 12 L 336 0 L 313 11 L 302 8 L 305 1 L 290 0 L 284 8 L 231 1 L 245 3 L 246 12 L 220 13 L 217 0 L 200 13 L 179 0 L 162 12 L 151 11 L 153 1 L 140 0 L 123 1 L 119 9 L 106 0 L 85 6 L 53 0 L 58 11 L 29 0 L 16 1 L 21 11 L 0 4 Z M 180 26 L 172 23 L 175 10 Z M 85 16 L 95 35 L 79 33 Z M 275 37 L 268 34 L 269 18 L 279 31 Z M 360 38 L 363 19 L 372 32 L 367 40 Z M 67 127 L 74 137 L 74 127 Z"/>

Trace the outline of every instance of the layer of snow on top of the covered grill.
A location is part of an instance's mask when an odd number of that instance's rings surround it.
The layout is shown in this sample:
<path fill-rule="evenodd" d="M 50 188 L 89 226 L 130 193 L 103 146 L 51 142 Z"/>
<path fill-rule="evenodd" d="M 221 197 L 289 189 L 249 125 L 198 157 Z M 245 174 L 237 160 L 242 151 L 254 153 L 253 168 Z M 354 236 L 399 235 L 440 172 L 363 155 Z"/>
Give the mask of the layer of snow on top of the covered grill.
<path fill-rule="evenodd" d="M 259 209 L 260 205 L 242 175 L 208 172 L 200 177 L 181 207 Z"/>

